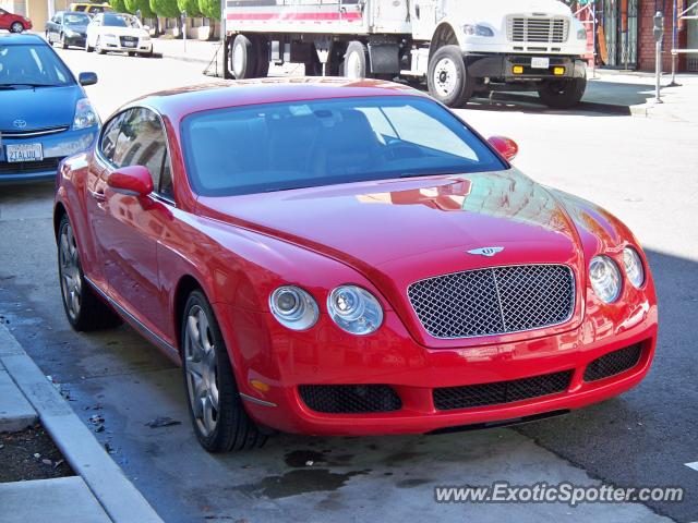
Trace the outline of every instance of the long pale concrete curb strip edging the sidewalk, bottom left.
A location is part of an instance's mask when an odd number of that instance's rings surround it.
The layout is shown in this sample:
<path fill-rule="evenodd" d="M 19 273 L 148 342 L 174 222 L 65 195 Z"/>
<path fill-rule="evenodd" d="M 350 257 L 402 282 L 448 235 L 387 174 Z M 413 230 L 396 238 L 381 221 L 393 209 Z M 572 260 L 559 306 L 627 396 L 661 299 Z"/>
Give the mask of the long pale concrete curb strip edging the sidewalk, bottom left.
<path fill-rule="evenodd" d="M 163 521 L 4 325 L 0 325 L 0 363 L 115 523 Z"/>

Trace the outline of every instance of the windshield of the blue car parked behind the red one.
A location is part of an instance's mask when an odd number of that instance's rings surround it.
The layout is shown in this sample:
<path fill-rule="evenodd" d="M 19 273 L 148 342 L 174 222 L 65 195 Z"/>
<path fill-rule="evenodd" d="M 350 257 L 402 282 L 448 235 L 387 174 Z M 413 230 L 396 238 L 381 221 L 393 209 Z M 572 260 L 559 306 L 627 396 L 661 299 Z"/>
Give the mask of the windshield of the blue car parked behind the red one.
<path fill-rule="evenodd" d="M 65 64 L 47 45 L 0 47 L 0 88 L 73 84 Z"/>

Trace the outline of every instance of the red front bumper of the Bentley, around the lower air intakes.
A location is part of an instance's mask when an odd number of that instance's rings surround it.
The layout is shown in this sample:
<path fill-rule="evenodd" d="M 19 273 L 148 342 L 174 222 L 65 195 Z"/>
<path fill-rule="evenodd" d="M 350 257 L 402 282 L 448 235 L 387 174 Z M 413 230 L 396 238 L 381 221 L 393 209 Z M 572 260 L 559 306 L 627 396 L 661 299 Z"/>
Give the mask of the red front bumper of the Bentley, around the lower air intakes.
<path fill-rule="evenodd" d="M 228 346 L 236 348 L 230 351 L 231 358 L 250 415 L 279 430 L 313 435 L 421 434 L 578 409 L 637 385 L 649 370 L 657 342 L 657 306 L 649 302 L 634 308 L 630 321 L 613 329 L 598 318 L 587 318 L 579 327 L 555 336 L 535 338 L 531 333 L 519 342 L 461 349 L 418 344 L 394 312 L 386 314 L 375 336 L 357 340 L 328 325 L 314 335 L 289 335 L 268 313 L 217 307 Z M 260 330 L 241 332 L 236 325 L 256 325 Z M 595 381 L 585 380 L 591 362 L 635 344 L 641 352 L 630 368 Z M 564 372 L 571 373 L 571 378 L 556 393 L 454 410 L 438 410 L 434 401 L 435 389 Z M 260 381 L 268 390 L 253 387 Z M 390 412 L 317 412 L 299 392 L 299 387 L 316 384 L 385 385 L 399 396 L 401 404 Z"/>

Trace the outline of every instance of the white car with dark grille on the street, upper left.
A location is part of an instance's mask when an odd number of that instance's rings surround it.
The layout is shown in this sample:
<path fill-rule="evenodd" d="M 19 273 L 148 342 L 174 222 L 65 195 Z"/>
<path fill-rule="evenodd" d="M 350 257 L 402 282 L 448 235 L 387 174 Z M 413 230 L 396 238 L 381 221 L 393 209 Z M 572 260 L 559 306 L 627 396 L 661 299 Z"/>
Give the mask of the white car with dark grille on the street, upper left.
<path fill-rule="evenodd" d="M 130 56 L 153 53 L 153 41 L 147 26 L 125 13 L 100 13 L 87 26 L 85 50 L 99 54 L 108 51 L 128 52 Z"/>

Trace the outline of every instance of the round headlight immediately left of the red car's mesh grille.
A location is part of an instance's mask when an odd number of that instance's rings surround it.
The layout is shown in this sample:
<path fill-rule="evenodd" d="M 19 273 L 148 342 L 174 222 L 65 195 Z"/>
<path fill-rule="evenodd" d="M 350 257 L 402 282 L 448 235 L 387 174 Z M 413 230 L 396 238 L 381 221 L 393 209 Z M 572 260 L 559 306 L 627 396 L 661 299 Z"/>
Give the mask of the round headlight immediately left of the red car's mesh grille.
<path fill-rule="evenodd" d="M 370 335 L 383 323 L 383 307 L 365 289 L 341 285 L 327 299 L 329 317 L 341 329 L 352 335 Z"/>

